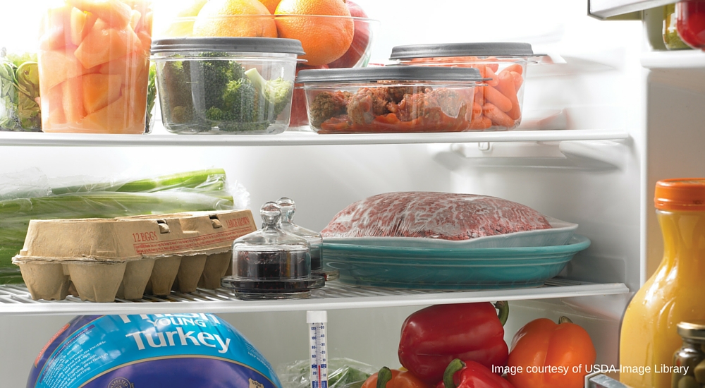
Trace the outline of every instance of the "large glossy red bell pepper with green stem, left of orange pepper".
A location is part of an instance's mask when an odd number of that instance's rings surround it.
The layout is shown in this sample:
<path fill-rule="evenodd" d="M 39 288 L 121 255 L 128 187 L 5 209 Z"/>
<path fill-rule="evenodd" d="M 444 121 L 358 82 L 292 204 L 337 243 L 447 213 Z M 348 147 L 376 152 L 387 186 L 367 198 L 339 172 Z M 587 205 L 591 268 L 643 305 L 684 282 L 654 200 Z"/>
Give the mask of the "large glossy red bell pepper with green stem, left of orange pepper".
<path fill-rule="evenodd" d="M 402 325 L 399 362 L 428 384 L 439 382 L 454 358 L 477 361 L 490 369 L 504 367 L 509 348 L 503 325 L 508 315 L 506 302 L 433 305 L 419 310 Z"/>

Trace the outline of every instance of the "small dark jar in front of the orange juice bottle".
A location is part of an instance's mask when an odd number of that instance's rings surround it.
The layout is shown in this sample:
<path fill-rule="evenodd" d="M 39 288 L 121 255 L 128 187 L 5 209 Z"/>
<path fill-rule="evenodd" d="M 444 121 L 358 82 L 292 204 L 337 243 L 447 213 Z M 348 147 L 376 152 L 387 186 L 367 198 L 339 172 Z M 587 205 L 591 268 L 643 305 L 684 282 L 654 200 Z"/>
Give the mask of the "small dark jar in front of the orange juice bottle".
<path fill-rule="evenodd" d="M 672 388 L 705 387 L 705 325 L 678 324 L 683 345 L 673 354 Z"/>

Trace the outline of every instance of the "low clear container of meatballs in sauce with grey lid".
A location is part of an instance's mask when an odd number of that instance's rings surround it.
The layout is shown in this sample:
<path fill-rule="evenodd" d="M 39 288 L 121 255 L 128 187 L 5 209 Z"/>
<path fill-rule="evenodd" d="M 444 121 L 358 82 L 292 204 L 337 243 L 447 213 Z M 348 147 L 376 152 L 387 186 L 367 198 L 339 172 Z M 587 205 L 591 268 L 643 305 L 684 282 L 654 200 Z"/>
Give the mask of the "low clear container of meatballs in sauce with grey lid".
<path fill-rule="evenodd" d="M 477 68 L 393 66 L 302 70 L 309 123 L 317 133 L 474 131 Z"/>

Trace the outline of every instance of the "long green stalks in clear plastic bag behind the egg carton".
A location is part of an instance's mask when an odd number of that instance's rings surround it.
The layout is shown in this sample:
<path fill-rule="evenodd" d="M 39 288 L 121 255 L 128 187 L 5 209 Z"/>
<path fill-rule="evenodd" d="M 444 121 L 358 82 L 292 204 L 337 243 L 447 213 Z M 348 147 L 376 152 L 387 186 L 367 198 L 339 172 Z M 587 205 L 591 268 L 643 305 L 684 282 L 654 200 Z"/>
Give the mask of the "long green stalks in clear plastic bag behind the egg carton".
<path fill-rule="evenodd" d="M 228 185 L 223 169 L 153 178 L 51 187 L 33 171 L 0 176 L 0 284 L 21 283 L 11 260 L 25 241 L 30 219 L 114 218 L 249 206 L 249 193 Z"/>

